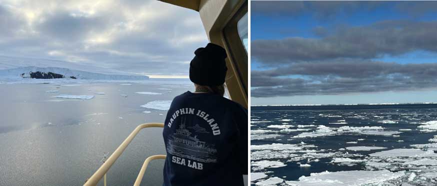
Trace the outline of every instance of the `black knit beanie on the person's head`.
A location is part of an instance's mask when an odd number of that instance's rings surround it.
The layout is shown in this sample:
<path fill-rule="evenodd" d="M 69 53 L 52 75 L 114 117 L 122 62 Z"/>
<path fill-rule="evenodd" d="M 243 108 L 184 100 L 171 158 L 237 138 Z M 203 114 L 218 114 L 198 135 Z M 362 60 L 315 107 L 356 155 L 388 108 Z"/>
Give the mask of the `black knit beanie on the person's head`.
<path fill-rule="evenodd" d="M 189 63 L 189 79 L 198 85 L 217 86 L 224 83 L 226 76 L 226 51 L 219 45 L 208 43 L 194 51 Z"/>

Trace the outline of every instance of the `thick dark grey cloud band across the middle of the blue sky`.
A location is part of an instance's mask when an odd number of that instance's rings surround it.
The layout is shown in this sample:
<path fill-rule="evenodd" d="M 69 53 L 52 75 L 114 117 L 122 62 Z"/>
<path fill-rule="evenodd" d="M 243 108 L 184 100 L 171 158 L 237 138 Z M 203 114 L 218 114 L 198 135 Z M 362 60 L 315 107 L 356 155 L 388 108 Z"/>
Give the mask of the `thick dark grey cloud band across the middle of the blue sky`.
<path fill-rule="evenodd" d="M 317 28 L 320 30 L 320 28 Z M 253 40 L 252 59 L 266 65 L 338 58 L 371 59 L 415 50 L 437 51 L 437 21 L 387 20 L 338 27 L 322 38 Z"/>

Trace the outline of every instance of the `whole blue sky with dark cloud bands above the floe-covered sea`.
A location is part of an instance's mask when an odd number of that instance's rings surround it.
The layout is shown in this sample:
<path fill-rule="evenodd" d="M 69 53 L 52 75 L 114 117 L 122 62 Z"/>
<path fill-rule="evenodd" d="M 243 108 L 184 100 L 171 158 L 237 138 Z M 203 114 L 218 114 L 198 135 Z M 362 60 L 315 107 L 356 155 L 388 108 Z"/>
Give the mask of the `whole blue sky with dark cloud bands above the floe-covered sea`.
<path fill-rule="evenodd" d="M 251 1 L 251 104 L 437 102 L 437 1 Z"/>

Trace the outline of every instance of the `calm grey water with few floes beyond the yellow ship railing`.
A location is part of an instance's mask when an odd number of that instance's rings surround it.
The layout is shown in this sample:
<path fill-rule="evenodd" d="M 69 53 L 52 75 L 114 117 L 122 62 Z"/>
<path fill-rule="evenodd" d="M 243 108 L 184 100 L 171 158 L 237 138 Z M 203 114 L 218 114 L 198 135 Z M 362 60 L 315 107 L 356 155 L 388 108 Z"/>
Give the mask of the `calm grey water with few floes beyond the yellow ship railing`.
<path fill-rule="evenodd" d="M 0 85 L 0 185 L 82 185 L 101 165 L 104 153 L 115 150 L 137 125 L 163 122 L 166 111 L 140 105 L 171 100 L 192 89 L 188 80 L 121 84 Z M 61 94 L 93 98 L 54 98 Z M 108 184 L 133 185 L 145 158 L 165 154 L 161 131 L 141 131 L 108 172 Z M 162 160 L 151 162 L 144 175 L 148 185 L 162 184 L 162 167 Z"/>

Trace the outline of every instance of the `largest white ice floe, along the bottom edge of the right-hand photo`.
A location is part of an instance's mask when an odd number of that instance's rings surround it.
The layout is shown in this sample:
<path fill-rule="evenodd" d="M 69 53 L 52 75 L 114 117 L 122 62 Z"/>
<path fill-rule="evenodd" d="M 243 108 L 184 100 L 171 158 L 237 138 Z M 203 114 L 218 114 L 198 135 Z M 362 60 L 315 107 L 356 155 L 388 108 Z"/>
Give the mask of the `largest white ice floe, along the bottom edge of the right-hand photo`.
<path fill-rule="evenodd" d="M 380 184 L 405 175 L 404 171 L 392 173 L 383 171 L 339 171 L 311 173 L 302 176 L 299 181 L 285 181 L 291 186 L 361 186 L 364 184 Z"/>

